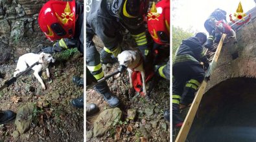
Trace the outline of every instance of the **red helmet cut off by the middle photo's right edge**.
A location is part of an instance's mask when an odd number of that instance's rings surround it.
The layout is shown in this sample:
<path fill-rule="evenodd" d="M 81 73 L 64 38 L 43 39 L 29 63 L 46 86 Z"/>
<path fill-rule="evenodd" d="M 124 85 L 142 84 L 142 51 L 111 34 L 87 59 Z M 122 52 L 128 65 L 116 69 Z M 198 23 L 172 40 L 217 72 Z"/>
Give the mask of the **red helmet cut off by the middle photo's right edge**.
<path fill-rule="evenodd" d="M 153 3 L 147 19 L 148 32 L 154 41 L 161 45 L 170 44 L 170 0 Z"/>

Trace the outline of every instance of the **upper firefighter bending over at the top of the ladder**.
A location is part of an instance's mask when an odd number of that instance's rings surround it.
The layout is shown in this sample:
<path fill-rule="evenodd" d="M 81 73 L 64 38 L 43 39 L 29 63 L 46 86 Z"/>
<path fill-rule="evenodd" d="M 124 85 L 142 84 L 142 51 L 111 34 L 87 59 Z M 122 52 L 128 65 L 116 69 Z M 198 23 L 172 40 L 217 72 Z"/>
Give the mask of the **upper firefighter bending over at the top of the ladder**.
<path fill-rule="evenodd" d="M 212 49 L 213 48 L 213 41 L 215 43 L 218 43 L 221 38 L 221 34 L 218 32 L 215 32 L 215 25 L 211 24 L 211 21 L 226 21 L 227 23 L 227 18 L 226 18 L 227 12 L 224 10 L 221 10 L 220 8 L 217 8 L 211 15 L 207 18 L 207 20 L 204 23 L 204 27 L 209 33 L 209 37 L 207 39 L 207 42 L 205 44 L 205 48 Z"/>

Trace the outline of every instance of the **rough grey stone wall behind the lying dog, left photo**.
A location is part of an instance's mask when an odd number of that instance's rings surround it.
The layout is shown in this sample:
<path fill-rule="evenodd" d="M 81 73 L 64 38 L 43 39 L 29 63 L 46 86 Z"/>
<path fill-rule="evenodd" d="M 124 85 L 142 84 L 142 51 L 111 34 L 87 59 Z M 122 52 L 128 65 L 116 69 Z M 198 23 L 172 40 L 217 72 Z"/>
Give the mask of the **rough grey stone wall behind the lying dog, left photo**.
<path fill-rule="evenodd" d="M 40 44 L 51 45 L 38 26 L 38 12 L 46 1 L 0 0 L 0 64 L 34 52 Z"/>

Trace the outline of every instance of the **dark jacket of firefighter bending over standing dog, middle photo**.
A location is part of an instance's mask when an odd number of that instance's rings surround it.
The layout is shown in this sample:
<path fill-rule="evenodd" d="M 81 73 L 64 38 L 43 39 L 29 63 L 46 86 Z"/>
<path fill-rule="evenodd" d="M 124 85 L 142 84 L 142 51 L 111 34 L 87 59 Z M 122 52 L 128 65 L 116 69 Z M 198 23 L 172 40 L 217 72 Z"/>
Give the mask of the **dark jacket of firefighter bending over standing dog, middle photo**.
<path fill-rule="evenodd" d="M 147 45 L 145 26 L 142 17 L 122 15 L 124 1 L 88 0 L 86 6 L 86 48 L 94 46 L 94 35 L 100 37 L 106 52 L 117 56 L 121 52 L 118 43 L 122 40 L 120 30 L 126 28 L 134 37 L 138 46 Z"/>

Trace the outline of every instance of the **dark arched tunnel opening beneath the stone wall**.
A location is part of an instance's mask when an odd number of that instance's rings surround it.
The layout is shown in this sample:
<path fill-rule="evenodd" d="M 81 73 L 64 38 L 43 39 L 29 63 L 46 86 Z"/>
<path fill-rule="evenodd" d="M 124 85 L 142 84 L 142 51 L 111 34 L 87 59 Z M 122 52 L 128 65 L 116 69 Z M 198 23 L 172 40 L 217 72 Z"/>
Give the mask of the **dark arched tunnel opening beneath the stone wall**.
<path fill-rule="evenodd" d="M 208 90 L 187 141 L 256 141 L 256 79 L 227 79 Z"/>

